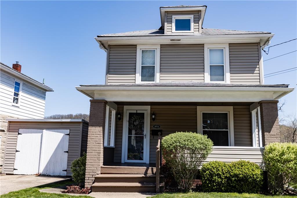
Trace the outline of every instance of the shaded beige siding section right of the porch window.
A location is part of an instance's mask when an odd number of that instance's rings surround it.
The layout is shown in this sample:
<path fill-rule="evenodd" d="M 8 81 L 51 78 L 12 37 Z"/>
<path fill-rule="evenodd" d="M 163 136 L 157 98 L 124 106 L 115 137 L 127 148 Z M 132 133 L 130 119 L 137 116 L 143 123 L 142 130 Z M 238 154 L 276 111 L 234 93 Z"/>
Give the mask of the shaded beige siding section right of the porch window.
<path fill-rule="evenodd" d="M 252 119 L 249 106 L 233 106 L 234 146 L 252 146 Z"/>

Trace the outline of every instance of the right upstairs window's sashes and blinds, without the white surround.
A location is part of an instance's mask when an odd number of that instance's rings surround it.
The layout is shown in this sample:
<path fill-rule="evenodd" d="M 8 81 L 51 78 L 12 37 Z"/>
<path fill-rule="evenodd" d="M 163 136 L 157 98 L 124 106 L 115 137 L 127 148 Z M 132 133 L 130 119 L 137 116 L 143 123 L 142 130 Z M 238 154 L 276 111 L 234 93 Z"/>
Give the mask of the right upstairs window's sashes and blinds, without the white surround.
<path fill-rule="evenodd" d="M 224 49 L 209 49 L 210 81 L 225 81 Z"/>

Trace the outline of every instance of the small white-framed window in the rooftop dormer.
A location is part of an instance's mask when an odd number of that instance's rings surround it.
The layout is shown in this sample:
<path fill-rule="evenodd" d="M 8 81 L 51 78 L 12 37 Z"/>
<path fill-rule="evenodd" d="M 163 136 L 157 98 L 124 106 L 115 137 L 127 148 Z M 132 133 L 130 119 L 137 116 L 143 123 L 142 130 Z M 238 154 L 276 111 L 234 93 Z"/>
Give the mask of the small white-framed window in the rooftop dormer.
<path fill-rule="evenodd" d="M 194 15 L 173 15 L 172 32 L 173 33 L 194 32 Z"/>

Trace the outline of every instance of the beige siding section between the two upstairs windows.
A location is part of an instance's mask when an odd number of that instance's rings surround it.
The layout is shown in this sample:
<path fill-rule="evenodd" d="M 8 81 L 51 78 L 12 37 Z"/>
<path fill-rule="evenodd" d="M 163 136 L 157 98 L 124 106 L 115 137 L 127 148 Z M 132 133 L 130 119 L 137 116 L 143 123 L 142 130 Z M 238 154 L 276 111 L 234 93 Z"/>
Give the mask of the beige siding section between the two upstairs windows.
<path fill-rule="evenodd" d="M 204 82 L 204 47 L 198 45 L 161 45 L 160 82 Z"/>

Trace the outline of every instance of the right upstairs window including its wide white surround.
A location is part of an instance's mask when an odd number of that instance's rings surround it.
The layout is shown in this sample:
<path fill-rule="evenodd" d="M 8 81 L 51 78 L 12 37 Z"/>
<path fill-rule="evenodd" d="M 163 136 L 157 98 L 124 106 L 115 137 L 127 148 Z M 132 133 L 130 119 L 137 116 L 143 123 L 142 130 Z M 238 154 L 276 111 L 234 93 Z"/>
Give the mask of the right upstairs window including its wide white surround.
<path fill-rule="evenodd" d="M 204 54 L 204 81 L 230 83 L 229 45 L 205 44 Z"/>

